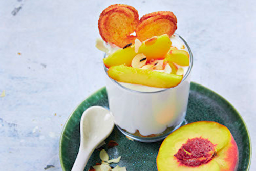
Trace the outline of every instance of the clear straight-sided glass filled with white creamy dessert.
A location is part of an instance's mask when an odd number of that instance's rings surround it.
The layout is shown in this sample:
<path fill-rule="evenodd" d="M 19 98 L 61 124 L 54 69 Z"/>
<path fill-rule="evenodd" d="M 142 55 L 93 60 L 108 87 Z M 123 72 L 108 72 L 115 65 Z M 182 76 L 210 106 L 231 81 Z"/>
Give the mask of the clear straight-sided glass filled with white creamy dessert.
<path fill-rule="evenodd" d="M 106 73 L 109 107 L 118 129 L 141 142 L 164 139 L 183 123 L 188 103 L 193 55 L 186 41 L 177 36 L 189 52 L 189 67 L 178 86 L 154 92 L 136 91 L 122 86 Z"/>

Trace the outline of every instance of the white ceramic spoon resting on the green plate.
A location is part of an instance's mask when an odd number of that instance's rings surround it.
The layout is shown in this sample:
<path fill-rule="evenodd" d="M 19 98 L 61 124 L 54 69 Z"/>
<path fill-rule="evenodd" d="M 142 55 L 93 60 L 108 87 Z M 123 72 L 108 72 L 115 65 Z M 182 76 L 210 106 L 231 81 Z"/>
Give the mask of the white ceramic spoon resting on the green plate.
<path fill-rule="evenodd" d="M 114 128 L 109 110 L 92 106 L 83 112 L 80 121 L 80 147 L 71 171 L 83 171 L 94 149 L 105 140 Z"/>

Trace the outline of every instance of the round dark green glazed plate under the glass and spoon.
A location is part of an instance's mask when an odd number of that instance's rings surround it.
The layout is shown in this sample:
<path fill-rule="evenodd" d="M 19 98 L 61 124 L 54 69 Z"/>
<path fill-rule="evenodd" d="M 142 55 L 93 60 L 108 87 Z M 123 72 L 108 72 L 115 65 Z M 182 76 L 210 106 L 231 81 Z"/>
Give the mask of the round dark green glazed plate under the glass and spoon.
<path fill-rule="evenodd" d="M 79 104 L 63 128 L 59 144 L 59 156 L 64 171 L 71 170 L 78 153 L 80 117 L 84 110 L 93 105 L 108 108 L 105 88 L 98 90 Z M 186 120 L 188 123 L 200 120 L 216 121 L 227 126 L 239 148 L 238 171 L 249 170 L 251 141 L 247 127 L 240 114 L 223 97 L 197 83 L 191 83 Z M 126 166 L 129 171 L 157 170 L 156 157 L 162 142 L 130 141 L 116 127 L 105 142 L 108 143 L 110 140 L 115 140 L 119 145 L 110 149 L 105 145 L 103 148 L 110 155 L 110 159 L 122 156 L 118 163 L 119 166 Z M 98 150 L 93 152 L 84 170 L 89 170 L 89 167 L 94 166 L 96 162 L 100 163 Z M 116 166 L 116 164 L 111 164 L 111 166 Z"/>

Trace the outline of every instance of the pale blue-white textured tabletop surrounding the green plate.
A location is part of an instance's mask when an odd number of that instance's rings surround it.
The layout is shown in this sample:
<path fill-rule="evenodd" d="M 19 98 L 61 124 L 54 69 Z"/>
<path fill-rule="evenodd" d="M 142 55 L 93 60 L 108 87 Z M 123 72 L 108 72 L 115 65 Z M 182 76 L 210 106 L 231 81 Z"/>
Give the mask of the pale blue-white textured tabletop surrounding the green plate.
<path fill-rule="evenodd" d="M 79 102 L 104 86 L 103 53 L 94 46 L 97 22 L 100 12 L 115 3 L 134 6 L 140 17 L 174 12 L 177 33 L 194 54 L 192 80 L 238 109 L 254 147 L 255 1 L 8 0 L 0 2 L 0 94 L 6 91 L 0 97 L 1 170 L 47 165 L 61 170 L 62 124 Z M 250 170 L 255 163 L 254 153 Z"/>

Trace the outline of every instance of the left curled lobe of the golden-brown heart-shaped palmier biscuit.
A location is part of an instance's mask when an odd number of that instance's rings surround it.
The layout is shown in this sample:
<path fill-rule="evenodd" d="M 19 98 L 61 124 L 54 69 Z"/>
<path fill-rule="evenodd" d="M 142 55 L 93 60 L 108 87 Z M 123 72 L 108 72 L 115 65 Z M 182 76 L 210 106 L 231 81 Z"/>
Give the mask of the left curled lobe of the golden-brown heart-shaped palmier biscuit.
<path fill-rule="evenodd" d="M 105 42 L 124 47 L 134 42 L 135 36 L 130 36 L 139 23 L 138 11 L 129 5 L 115 4 L 104 9 L 100 14 L 99 33 Z"/>

